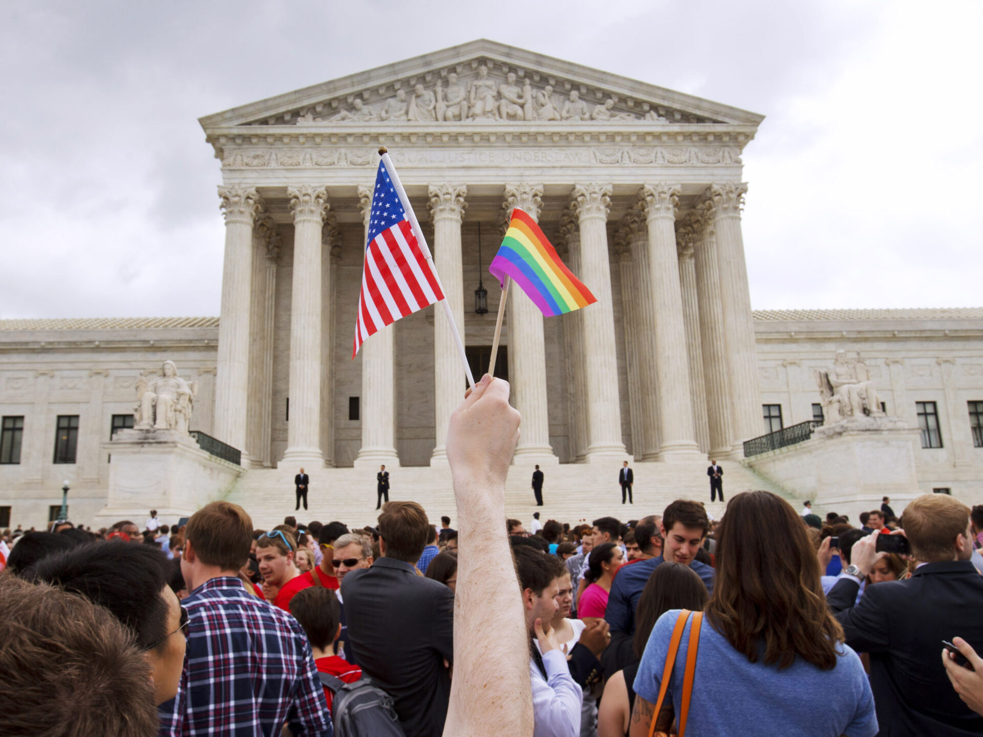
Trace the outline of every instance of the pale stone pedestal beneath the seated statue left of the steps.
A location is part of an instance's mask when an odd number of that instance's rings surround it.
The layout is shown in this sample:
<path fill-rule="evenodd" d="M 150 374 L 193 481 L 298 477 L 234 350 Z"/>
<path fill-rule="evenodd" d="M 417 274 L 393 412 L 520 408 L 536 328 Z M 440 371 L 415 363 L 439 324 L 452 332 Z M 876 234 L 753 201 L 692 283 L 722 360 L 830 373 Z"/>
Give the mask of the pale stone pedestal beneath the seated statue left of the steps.
<path fill-rule="evenodd" d="M 177 430 L 119 430 L 102 450 L 110 462 L 106 506 L 93 522 L 100 527 L 127 519 L 140 525 L 151 509 L 162 518 L 190 517 L 243 474 Z"/>

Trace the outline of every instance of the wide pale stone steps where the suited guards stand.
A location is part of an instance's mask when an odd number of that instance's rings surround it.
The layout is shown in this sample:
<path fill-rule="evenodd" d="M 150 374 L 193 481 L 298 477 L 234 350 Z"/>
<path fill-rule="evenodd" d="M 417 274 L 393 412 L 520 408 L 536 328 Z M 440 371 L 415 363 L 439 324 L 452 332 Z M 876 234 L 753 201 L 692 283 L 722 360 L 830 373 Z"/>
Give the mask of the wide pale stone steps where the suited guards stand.
<path fill-rule="evenodd" d="M 707 463 L 700 461 L 669 463 L 635 463 L 634 504 L 621 504 L 617 484 L 620 464 L 564 464 L 543 469 L 544 506 L 541 519 L 568 522 L 571 526 L 588 524 L 598 517 L 612 516 L 626 522 L 649 514 L 661 514 L 673 499 L 697 499 L 706 503 L 715 518 L 723 515 L 721 502 L 711 503 Z M 753 489 L 767 489 L 780 494 L 796 509 L 798 501 L 774 483 L 768 482 L 735 461 L 721 462 L 723 488 L 732 494 Z M 522 520 L 527 527 L 537 511 L 531 488 L 532 467 L 512 466 L 505 486 L 505 510 L 508 517 Z M 243 506 L 257 528 L 269 529 L 280 524 L 286 515 L 301 521 L 340 520 L 350 527 L 375 525 L 376 469 L 322 469 L 308 473 L 311 491 L 309 510 L 295 513 L 294 470 L 260 469 L 248 471 L 230 490 L 226 498 Z M 455 503 L 450 470 L 446 467 L 409 467 L 390 469 L 389 498 L 420 502 L 435 524 L 448 515 L 454 527 Z"/>

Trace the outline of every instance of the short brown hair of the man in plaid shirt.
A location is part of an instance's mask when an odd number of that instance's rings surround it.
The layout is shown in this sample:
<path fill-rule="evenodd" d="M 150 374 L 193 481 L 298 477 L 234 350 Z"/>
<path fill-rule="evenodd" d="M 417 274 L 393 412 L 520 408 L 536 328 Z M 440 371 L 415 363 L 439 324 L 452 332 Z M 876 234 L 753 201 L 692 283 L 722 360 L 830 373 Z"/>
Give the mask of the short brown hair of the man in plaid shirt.
<path fill-rule="evenodd" d="M 205 565 L 238 571 L 249 560 L 252 531 L 253 520 L 245 509 L 228 501 L 213 501 L 191 516 L 184 536 Z"/>

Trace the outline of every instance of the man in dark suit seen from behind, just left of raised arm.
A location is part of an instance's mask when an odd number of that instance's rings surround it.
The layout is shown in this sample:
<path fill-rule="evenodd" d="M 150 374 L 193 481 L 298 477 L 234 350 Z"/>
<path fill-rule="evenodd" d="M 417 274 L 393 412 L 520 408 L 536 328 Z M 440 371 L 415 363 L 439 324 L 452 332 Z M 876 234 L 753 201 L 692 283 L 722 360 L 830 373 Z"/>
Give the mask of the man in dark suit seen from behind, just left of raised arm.
<path fill-rule="evenodd" d="M 450 697 L 454 594 L 414 568 L 429 529 L 419 504 L 390 502 L 378 518 L 382 557 L 341 582 L 354 659 L 392 697 L 406 737 L 439 737 Z"/>

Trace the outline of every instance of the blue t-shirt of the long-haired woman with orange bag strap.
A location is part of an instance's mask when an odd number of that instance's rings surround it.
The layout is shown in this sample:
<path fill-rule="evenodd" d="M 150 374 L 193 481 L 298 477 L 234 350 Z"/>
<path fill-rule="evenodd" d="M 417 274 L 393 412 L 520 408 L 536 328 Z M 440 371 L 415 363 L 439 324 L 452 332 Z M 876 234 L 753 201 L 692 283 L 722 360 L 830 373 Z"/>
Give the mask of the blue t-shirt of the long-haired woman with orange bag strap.
<path fill-rule="evenodd" d="M 672 630 L 678 609 L 656 622 L 635 677 L 635 693 L 651 704 L 659 701 Z M 679 714 L 686 669 L 686 625 L 672 668 L 668 698 Z M 838 647 L 833 670 L 820 670 L 802 658 L 779 670 L 778 664 L 749 662 L 742 652 L 705 621 L 696 655 L 693 696 L 686 732 L 700 737 L 743 734 L 794 734 L 798 737 L 874 737 L 878 732 L 874 695 L 856 652 Z"/>

